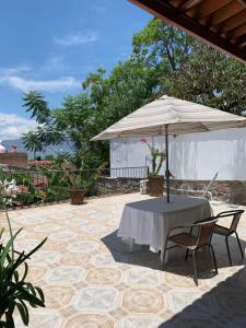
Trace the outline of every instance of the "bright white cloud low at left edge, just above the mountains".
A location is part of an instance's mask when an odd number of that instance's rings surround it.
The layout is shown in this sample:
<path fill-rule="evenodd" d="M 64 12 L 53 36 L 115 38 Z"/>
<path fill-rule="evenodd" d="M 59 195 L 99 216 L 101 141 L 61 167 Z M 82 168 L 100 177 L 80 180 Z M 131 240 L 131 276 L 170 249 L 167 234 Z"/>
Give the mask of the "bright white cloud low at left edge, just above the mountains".
<path fill-rule="evenodd" d="M 0 113 L 0 139 L 16 139 L 35 129 L 36 122 L 15 114 Z"/>

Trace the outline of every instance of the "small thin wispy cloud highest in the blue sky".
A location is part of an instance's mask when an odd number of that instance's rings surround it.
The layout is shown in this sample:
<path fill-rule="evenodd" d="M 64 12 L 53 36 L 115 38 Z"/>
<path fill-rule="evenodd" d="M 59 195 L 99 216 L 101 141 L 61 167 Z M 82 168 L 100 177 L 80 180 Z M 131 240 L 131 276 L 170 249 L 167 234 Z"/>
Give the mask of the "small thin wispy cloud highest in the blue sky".
<path fill-rule="evenodd" d="M 97 39 L 95 32 L 69 34 L 63 37 L 54 36 L 54 42 L 62 47 L 79 46 L 83 44 L 94 43 Z"/>

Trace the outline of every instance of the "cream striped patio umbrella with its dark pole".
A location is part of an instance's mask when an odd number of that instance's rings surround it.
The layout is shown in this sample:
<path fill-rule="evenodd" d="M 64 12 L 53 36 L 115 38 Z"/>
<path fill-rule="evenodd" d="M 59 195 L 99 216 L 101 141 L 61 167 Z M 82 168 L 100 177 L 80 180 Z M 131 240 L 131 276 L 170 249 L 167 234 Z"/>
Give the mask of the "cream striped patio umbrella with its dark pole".
<path fill-rule="evenodd" d="M 163 95 L 137 109 L 92 140 L 165 136 L 166 195 L 169 202 L 168 134 L 246 127 L 244 117 Z"/>

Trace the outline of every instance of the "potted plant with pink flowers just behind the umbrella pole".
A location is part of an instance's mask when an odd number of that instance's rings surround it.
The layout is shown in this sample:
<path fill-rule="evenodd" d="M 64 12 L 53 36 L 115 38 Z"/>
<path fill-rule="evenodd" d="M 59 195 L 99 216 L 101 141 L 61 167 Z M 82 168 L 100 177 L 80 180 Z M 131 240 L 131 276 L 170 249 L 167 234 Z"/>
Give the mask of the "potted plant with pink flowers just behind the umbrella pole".
<path fill-rule="evenodd" d="M 141 143 L 145 143 L 150 150 L 152 160 L 152 169 L 149 174 L 149 195 L 153 197 L 163 196 L 164 189 L 164 176 L 159 175 L 162 165 L 166 159 L 165 151 L 160 151 L 159 149 L 151 147 L 147 139 L 141 139 Z"/>

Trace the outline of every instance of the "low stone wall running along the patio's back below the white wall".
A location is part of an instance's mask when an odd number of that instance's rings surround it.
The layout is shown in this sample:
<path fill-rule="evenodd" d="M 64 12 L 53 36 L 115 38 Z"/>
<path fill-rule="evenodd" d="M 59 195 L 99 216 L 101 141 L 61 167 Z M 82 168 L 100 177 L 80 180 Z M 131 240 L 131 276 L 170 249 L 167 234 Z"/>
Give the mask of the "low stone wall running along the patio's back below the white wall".
<path fill-rule="evenodd" d="M 99 178 L 96 189 L 99 194 L 129 194 L 139 192 L 139 178 Z M 198 196 L 209 185 L 209 180 L 171 180 L 171 194 Z M 210 191 L 214 200 L 223 200 L 232 203 L 246 204 L 246 181 L 218 180 Z"/>

